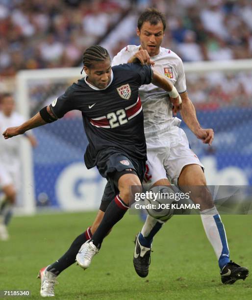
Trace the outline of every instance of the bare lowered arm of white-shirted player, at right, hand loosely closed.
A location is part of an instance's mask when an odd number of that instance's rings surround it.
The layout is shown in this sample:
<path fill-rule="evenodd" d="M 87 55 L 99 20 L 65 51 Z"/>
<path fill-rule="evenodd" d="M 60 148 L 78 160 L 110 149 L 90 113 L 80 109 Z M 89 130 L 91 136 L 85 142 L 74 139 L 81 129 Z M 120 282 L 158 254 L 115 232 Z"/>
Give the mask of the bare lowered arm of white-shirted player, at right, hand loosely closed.
<path fill-rule="evenodd" d="M 212 128 L 202 128 L 196 115 L 195 107 L 189 99 L 187 92 L 181 94 L 182 109 L 180 111 L 181 117 L 185 124 L 192 130 L 196 137 L 204 144 L 211 145 L 214 138 L 214 131 Z"/>

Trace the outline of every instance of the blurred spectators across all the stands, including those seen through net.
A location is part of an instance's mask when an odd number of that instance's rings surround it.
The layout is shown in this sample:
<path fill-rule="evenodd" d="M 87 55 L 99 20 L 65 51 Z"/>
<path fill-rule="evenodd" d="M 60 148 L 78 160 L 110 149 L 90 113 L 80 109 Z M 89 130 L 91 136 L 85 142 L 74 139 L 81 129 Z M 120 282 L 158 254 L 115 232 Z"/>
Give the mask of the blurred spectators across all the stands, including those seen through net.
<path fill-rule="evenodd" d="M 0 0 L 0 77 L 21 69 L 79 66 L 83 50 L 102 44 L 124 20 L 129 26 L 123 28 L 134 29 L 113 35 L 111 56 L 127 44 L 139 44 L 137 17 L 147 7 L 166 15 L 162 46 L 184 62 L 252 58 L 252 0 Z M 246 105 L 252 91 L 244 78 L 236 82 L 237 76 L 225 79 L 229 94 L 223 85 L 211 91 L 213 101 L 241 101 L 230 100 L 235 86 Z M 247 77 L 249 84 L 251 73 Z M 187 81 L 190 85 L 191 78 Z M 206 81 L 202 77 L 191 86 L 196 102 L 205 98 Z"/>

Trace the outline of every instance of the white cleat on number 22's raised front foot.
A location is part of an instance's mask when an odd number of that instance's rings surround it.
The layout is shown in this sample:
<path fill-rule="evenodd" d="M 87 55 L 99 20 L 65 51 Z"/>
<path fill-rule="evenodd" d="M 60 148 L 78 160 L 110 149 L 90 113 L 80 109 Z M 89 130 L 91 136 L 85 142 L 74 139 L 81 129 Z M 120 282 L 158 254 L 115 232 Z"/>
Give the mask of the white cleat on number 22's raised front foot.
<path fill-rule="evenodd" d="M 84 270 L 86 270 L 90 264 L 93 256 L 98 253 L 97 247 L 93 242 L 86 241 L 76 255 L 77 264 Z"/>

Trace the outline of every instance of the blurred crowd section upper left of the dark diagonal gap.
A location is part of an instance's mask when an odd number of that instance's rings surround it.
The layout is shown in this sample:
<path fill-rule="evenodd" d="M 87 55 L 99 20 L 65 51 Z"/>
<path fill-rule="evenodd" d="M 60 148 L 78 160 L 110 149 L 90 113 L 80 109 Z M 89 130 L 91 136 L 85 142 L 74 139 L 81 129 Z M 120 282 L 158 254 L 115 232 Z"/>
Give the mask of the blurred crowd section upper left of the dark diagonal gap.
<path fill-rule="evenodd" d="M 0 0 L 0 75 L 71 67 L 116 24 L 128 1 Z"/>

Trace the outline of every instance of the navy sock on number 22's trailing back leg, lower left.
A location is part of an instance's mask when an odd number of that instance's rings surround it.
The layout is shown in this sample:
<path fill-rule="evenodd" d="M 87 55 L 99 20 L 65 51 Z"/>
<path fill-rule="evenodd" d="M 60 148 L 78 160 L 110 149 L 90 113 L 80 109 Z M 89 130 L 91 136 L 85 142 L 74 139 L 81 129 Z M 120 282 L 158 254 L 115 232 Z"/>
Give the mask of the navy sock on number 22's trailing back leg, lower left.
<path fill-rule="evenodd" d="M 76 260 L 76 255 L 81 245 L 92 238 L 90 228 L 91 227 L 88 227 L 85 232 L 78 235 L 66 253 L 51 264 L 47 271 L 50 271 L 55 275 L 59 275 L 62 271 L 71 266 Z"/>

